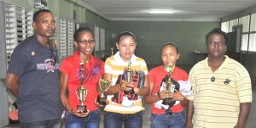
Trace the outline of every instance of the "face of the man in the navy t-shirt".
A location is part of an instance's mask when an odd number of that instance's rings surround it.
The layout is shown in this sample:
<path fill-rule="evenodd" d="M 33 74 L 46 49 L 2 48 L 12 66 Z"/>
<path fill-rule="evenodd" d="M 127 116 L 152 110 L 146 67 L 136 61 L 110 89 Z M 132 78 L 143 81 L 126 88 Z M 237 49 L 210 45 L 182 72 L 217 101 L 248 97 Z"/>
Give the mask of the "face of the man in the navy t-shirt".
<path fill-rule="evenodd" d="M 55 34 L 55 19 L 49 12 L 42 12 L 38 15 L 36 22 L 32 24 L 38 36 L 49 38 Z"/>

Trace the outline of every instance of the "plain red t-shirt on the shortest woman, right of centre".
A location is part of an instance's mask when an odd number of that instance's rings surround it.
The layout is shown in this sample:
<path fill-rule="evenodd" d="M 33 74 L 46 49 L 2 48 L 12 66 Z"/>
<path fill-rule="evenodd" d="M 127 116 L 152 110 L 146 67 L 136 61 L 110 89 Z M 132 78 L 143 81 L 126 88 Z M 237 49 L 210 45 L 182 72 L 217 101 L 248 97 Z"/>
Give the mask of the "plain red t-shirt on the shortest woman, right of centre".
<path fill-rule="evenodd" d="M 166 72 L 166 70 L 164 69 L 164 67 L 162 65 L 155 67 L 149 71 L 148 80 L 150 83 L 154 83 L 152 95 L 156 95 L 159 92 L 161 82 L 165 78 L 166 75 L 168 75 L 168 72 Z M 172 79 L 174 81 L 188 81 L 189 76 L 184 70 L 182 70 L 176 66 L 172 72 Z M 179 113 L 179 112 L 183 111 L 183 106 L 181 103 L 178 103 L 177 105 L 173 106 L 171 109 L 172 109 L 172 112 Z M 155 108 L 154 103 L 151 104 L 151 111 L 152 111 L 152 114 L 165 114 L 166 113 L 166 109 Z"/>

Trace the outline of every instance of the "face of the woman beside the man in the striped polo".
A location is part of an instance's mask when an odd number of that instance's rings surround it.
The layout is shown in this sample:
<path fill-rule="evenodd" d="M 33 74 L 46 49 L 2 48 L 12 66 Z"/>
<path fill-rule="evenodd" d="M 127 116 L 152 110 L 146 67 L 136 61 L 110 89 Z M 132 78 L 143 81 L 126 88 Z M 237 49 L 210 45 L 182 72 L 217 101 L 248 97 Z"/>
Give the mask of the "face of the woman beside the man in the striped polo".
<path fill-rule="evenodd" d="M 166 45 L 162 49 L 161 53 L 162 61 L 165 65 L 170 64 L 176 64 L 177 59 L 179 58 L 179 53 L 177 53 L 176 47 L 172 45 Z"/>

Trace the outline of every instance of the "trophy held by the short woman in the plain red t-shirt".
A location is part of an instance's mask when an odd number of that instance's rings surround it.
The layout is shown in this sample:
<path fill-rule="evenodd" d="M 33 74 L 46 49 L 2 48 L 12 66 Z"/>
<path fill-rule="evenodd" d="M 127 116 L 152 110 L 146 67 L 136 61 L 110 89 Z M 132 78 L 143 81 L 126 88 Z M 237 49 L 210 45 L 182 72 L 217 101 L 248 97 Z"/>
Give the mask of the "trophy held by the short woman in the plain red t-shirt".
<path fill-rule="evenodd" d="M 174 67 L 175 65 L 172 64 L 172 62 L 170 64 L 167 64 L 165 67 L 166 71 L 169 73 L 169 78 L 166 81 L 166 86 L 164 86 L 164 90 L 168 93 L 175 91 L 175 85 L 172 83 L 172 77 L 171 77 Z M 175 101 L 172 101 L 172 97 L 166 97 L 163 100 L 163 104 L 169 105 L 170 107 L 172 107 L 175 104 Z"/>

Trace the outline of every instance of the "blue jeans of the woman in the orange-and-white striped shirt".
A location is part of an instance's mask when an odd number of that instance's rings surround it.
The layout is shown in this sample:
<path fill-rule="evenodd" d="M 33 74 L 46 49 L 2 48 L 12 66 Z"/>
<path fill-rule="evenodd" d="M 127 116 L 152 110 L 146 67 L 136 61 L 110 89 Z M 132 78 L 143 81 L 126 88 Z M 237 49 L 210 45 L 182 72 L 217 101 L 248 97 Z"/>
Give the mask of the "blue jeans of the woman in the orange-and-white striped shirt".
<path fill-rule="evenodd" d="M 104 113 L 104 128 L 121 128 L 125 123 L 125 128 L 142 128 L 143 112 L 136 114 L 118 114 L 112 112 Z"/>

